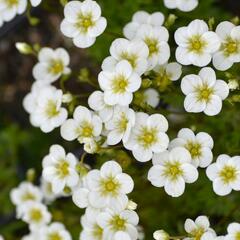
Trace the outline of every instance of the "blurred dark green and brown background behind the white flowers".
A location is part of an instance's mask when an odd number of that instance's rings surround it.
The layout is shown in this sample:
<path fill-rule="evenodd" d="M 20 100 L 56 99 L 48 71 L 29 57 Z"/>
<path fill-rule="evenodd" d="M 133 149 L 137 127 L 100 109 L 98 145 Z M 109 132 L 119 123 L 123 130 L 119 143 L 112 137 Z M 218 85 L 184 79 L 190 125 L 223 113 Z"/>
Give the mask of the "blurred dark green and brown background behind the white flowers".
<path fill-rule="evenodd" d="M 15 209 L 9 200 L 9 191 L 25 179 L 26 171 L 35 168 L 41 175 L 41 161 L 52 144 L 58 143 L 67 151 L 78 157 L 81 145 L 77 142 L 67 143 L 59 134 L 59 129 L 44 134 L 33 128 L 28 115 L 22 108 L 22 99 L 29 92 L 33 82 L 31 69 L 36 59 L 22 56 L 15 49 L 15 42 L 39 43 L 41 46 L 65 47 L 71 55 L 71 68 L 78 72 L 87 67 L 92 76 L 97 75 L 103 58 L 108 56 L 111 42 L 122 34 L 123 26 L 131 20 L 132 14 L 138 10 L 148 12 L 161 11 L 167 17 L 170 13 L 178 18 L 170 27 L 170 42 L 174 45 L 173 33 L 179 26 L 186 25 L 193 19 L 206 21 L 215 18 L 215 25 L 223 20 L 230 20 L 240 15 L 239 0 L 200 0 L 199 7 L 190 13 L 164 8 L 162 0 L 99 0 L 97 1 L 108 20 L 106 32 L 97 39 L 94 46 L 87 50 L 77 49 L 71 41 L 64 38 L 59 31 L 63 18 L 63 8 L 58 0 L 43 0 L 43 4 L 34 9 L 32 15 L 40 19 L 37 26 L 30 26 L 22 16 L 0 29 L 0 234 L 5 239 L 15 240 L 28 232 L 26 224 L 15 219 Z M 174 52 L 174 47 L 173 47 Z M 174 59 L 172 54 L 171 60 Z M 184 68 L 184 74 L 197 73 L 198 68 Z M 228 73 L 220 73 L 218 77 L 228 81 L 240 78 L 240 65 L 236 64 Z M 72 77 L 66 82 L 66 88 L 74 93 L 91 92 L 94 89 L 85 86 Z M 170 122 L 169 136 L 176 137 L 183 127 L 192 127 L 196 132 L 208 132 L 215 141 L 214 155 L 222 153 L 239 155 L 240 153 L 240 103 L 239 91 L 233 91 L 228 101 L 224 102 L 222 112 L 216 117 L 203 114 L 186 114 L 183 109 L 184 96 L 179 82 L 161 93 L 161 101 L 178 113 L 173 114 L 164 107 L 159 112 L 166 115 Z M 234 101 L 233 101 L 234 100 Z M 83 104 L 83 103 L 81 103 Z M 226 226 L 232 221 L 240 220 L 240 194 L 234 192 L 227 197 L 218 197 L 213 193 L 212 184 L 206 178 L 204 170 L 200 170 L 199 180 L 187 185 L 185 194 L 179 198 L 171 198 L 163 189 L 153 187 L 146 178 L 151 163 L 139 164 L 130 153 L 109 151 L 102 156 L 88 156 L 86 163 L 99 167 L 104 161 L 116 159 L 129 173 L 135 182 L 134 192 L 130 198 L 138 203 L 140 225 L 146 234 L 145 239 L 152 239 L 157 229 L 165 229 L 172 235 L 184 234 L 183 224 L 187 217 L 198 215 L 210 217 L 212 226 L 219 234 L 224 234 Z M 36 180 L 38 184 L 38 180 Z M 53 220 L 62 221 L 73 235 L 79 238 L 80 216 L 71 199 L 59 199 L 50 206 Z"/>

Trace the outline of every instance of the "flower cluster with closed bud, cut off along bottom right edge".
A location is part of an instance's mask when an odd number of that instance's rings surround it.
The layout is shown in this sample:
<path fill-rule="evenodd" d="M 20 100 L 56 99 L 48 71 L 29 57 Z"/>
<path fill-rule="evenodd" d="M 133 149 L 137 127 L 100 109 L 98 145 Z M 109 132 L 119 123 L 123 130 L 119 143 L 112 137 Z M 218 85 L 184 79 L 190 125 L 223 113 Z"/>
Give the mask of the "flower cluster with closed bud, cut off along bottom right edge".
<path fill-rule="evenodd" d="M 228 225 L 227 234 L 217 236 L 216 232 L 210 228 L 210 222 L 206 216 L 199 216 L 194 220 L 188 218 L 185 221 L 184 229 L 186 237 L 181 237 L 183 240 L 237 240 L 240 236 L 240 224 L 231 223 Z M 157 230 L 153 234 L 155 240 L 170 240 L 177 239 L 172 237 L 164 230 Z"/>

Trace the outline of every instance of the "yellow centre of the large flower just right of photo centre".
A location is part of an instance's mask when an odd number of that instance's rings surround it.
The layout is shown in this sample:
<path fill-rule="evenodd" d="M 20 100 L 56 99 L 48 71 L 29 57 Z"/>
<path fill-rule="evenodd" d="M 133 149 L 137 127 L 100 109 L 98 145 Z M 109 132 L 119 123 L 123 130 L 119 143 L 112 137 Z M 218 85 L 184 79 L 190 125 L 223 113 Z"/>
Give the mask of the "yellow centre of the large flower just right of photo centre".
<path fill-rule="evenodd" d="M 149 148 L 157 142 L 157 129 L 143 127 L 137 141 L 144 147 Z"/>

